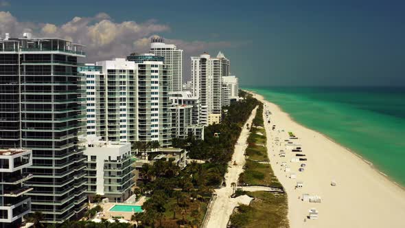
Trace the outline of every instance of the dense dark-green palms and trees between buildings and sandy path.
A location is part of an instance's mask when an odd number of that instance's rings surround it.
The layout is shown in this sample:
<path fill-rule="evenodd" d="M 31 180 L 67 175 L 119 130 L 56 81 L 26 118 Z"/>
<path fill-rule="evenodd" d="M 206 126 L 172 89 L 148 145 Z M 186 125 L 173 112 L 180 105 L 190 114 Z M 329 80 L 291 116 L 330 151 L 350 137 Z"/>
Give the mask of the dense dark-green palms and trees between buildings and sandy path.
<path fill-rule="evenodd" d="M 242 126 L 259 104 L 251 95 L 241 95 L 244 100 L 224 108 L 220 124 L 205 128 L 204 141 L 193 137 L 173 139 L 174 147 L 189 151 L 191 159 L 205 163 L 192 162 L 183 170 L 172 160 L 143 165 L 139 192 L 148 193 L 150 198 L 143 204 L 144 212 L 135 214 L 132 220 L 141 227 L 198 227 L 202 223 L 212 190 L 222 183 L 227 172 Z M 146 152 L 147 145 L 137 144 Z"/>

